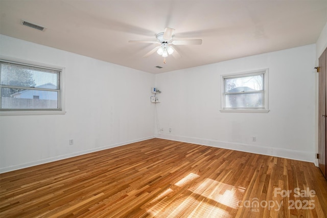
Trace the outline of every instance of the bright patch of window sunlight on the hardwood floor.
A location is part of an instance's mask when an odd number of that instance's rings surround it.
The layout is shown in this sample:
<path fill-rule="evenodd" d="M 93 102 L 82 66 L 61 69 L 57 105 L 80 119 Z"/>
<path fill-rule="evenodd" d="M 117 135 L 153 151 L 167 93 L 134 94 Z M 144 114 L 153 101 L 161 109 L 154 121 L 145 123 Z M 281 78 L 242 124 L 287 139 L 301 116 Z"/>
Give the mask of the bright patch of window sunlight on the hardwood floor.
<path fill-rule="evenodd" d="M 195 173 L 189 173 L 171 188 L 160 193 L 151 203 L 159 201 L 148 210 L 158 217 L 231 217 L 233 210 L 239 208 L 239 199 L 243 198 L 245 188 L 218 182 L 206 178 L 196 185 L 183 191 L 177 198 L 167 197 L 174 189 L 180 189 L 191 181 L 199 178 Z M 175 186 L 175 188 L 174 188 Z"/>

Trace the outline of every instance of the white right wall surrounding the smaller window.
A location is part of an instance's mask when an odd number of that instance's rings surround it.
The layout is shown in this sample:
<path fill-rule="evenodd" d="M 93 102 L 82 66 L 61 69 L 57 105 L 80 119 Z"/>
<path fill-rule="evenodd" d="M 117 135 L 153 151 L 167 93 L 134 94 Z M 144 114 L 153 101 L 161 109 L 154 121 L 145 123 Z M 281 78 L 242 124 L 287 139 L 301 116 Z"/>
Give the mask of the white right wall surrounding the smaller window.
<path fill-rule="evenodd" d="M 156 75 L 157 137 L 314 162 L 315 57 L 308 45 Z M 270 112 L 221 113 L 220 75 L 264 68 Z"/>

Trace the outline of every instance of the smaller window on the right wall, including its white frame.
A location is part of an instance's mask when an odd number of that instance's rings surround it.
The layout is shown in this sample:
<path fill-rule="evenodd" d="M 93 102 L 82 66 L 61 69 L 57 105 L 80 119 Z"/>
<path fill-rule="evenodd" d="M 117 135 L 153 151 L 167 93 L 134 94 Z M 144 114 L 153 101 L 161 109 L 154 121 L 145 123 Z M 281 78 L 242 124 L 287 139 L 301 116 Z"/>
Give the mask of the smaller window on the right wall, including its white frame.
<path fill-rule="evenodd" d="M 221 76 L 221 112 L 268 112 L 268 69 Z"/>

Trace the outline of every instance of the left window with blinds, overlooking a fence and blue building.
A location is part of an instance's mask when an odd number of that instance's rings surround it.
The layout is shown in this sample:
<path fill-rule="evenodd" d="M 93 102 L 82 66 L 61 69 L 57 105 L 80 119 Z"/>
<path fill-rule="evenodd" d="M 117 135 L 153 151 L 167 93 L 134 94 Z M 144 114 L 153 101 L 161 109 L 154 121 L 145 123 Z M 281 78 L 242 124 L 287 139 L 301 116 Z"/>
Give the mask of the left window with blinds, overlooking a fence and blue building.
<path fill-rule="evenodd" d="M 62 69 L 0 59 L 0 111 L 61 112 Z"/>

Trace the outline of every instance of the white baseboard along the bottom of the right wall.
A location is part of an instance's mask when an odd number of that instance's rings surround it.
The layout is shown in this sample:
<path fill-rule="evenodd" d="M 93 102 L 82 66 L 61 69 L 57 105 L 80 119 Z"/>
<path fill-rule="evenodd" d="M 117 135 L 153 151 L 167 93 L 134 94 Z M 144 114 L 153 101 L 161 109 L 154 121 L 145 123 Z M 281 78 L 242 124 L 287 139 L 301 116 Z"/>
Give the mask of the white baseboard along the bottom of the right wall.
<path fill-rule="evenodd" d="M 193 138 L 193 137 L 185 137 L 185 136 L 174 136 L 167 134 L 158 134 L 156 138 L 159 139 L 168 139 L 179 142 L 187 142 L 199 145 L 207 145 L 212 147 L 226 148 L 231 150 L 239 150 L 244 152 L 251 152 L 254 154 L 260 155 L 269 155 L 274 157 L 281 157 L 299 161 L 306 161 L 315 163 L 315 153 L 314 152 L 305 152 L 298 151 L 292 149 L 285 148 L 276 148 L 276 147 L 265 147 L 258 145 L 250 145 L 250 144 L 242 144 L 235 142 L 222 142 L 210 139 L 201 139 L 201 138 Z"/>

